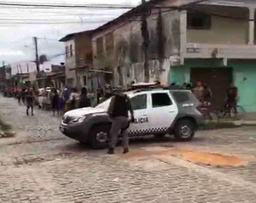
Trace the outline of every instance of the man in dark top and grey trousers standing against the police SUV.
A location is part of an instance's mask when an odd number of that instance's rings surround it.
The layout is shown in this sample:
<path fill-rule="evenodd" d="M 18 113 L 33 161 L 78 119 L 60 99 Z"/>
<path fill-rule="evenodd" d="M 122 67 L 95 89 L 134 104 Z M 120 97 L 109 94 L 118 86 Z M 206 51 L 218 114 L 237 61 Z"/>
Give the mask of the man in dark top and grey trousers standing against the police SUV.
<path fill-rule="evenodd" d="M 107 113 L 112 120 L 110 130 L 110 144 L 108 154 L 114 154 L 114 148 L 118 139 L 119 132 L 123 138 L 123 153 L 129 152 L 129 138 L 127 128 L 129 127 L 128 111 L 131 113 L 131 121 L 134 122 L 134 114 L 129 97 L 122 93 L 122 87 L 116 88 L 116 94 L 112 97 Z"/>

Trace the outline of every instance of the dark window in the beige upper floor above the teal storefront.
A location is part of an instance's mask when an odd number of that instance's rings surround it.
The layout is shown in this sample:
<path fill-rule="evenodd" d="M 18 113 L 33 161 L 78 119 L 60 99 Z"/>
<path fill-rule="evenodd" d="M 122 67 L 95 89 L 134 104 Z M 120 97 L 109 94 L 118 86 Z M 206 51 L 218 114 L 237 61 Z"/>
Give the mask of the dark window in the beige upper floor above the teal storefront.
<path fill-rule="evenodd" d="M 207 13 L 187 13 L 187 29 L 211 29 L 211 24 L 211 15 Z"/>

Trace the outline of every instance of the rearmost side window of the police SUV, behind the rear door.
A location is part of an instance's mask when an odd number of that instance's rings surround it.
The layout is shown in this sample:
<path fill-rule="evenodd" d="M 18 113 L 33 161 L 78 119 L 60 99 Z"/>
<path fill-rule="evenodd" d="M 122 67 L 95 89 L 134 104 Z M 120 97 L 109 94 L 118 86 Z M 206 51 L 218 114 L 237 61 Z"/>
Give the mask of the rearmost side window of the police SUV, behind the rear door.
<path fill-rule="evenodd" d="M 194 105 L 199 104 L 198 99 L 190 91 L 172 91 L 171 94 L 177 103 L 193 103 Z"/>

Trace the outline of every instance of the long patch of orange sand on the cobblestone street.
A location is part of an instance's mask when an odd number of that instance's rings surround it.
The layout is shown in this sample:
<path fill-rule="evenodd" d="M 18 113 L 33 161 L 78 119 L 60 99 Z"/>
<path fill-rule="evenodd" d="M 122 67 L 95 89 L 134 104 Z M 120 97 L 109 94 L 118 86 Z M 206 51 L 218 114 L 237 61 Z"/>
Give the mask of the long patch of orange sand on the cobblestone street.
<path fill-rule="evenodd" d="M 248 157 L 246 155 L 225 155 L 221 153 L 212 153 L 212 152 L 203 152 L 196 150 L 186 150 L 186 149 L 157 149 L 150 151 L 142 150 L 142 151 L 134 151 L 128 154 L 119 154 L 116 155 L 120 159 L 143 159 L 153 158 L 153 156 L 161 155 L 161 156 L 175 156 L 190 162 L 208 164 L 213 166 L 244 166 L 248 163 Z M 155 157 L 156 158 L 156 157 Z"/>

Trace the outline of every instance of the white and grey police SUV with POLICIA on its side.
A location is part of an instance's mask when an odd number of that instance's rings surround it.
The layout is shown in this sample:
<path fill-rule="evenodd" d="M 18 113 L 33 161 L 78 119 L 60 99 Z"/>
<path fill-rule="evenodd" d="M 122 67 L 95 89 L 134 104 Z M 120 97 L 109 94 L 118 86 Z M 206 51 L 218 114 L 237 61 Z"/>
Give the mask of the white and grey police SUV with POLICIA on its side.
<path fill-rule="evenodd" d="M 135 122 L 127 129 L 130 137 L 163 137 L 170 134 L 179 141 L 189 141 L 198 126 L 204 124 L 204 117 L 198 110 L 200 103 L 189 90 L 143 85 L 125 94 L 131 99 L 135 117 Z M 66 112 L 59 126 L 60 131 L 91 148 L 106 148 L 111 128 L 111 120 L 106 114 L 110 100 L 96 107 Z"/>

